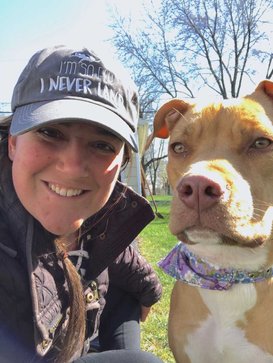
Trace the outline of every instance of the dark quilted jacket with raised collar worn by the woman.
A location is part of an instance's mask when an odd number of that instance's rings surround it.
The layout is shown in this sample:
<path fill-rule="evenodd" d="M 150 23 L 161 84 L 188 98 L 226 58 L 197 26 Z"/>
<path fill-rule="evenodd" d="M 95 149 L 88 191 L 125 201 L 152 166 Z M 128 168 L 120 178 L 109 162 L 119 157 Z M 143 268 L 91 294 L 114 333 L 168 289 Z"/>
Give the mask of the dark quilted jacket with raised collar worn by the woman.
<path fill-rule="evenodd" d="M 24 209 L 8 176 L 2 175 L 2 185 L 0 362 L 45 362 L 56 355 L 55 342 L 65 334 L 68 322 L 63 264 L 52 247 L 56 236 Z M 119 202 L 105 214 L 120 195 Z M 161 285 L 152 266 L 130 246 L 153 218 L 146 199 L 129 188 L 124 192 L 123 184 L 117 182 L 107 205 L 85 221 L 82 231 L 89 253 L 83 279 L 86 340 L 72 361 L 87 354 L 89 337 L 99 327 L 109 277 L 131 291 L 141 305 L 151 306 L 160 298 Z"/>

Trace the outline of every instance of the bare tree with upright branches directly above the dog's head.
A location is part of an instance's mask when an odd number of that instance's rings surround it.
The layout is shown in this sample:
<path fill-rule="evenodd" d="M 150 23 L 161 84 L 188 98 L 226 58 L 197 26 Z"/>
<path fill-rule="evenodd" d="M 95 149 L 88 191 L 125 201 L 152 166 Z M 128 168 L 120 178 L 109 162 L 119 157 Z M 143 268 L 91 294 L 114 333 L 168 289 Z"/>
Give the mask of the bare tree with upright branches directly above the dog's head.
<path fill-rule="evenodd" d="M 192 72 L 224 99 L 228 98 L 228 84 L 231 96 L 238 97 L 244 74 L 253 72 L 247 61 L 258 56 L 257 47 L 266 37 L 262 19 L 272 1 L 169 1 L 173 26 L 179 26 L 177 49 L 189 54 Z M 198 58 L 206 66 L 199 66 Z"/>

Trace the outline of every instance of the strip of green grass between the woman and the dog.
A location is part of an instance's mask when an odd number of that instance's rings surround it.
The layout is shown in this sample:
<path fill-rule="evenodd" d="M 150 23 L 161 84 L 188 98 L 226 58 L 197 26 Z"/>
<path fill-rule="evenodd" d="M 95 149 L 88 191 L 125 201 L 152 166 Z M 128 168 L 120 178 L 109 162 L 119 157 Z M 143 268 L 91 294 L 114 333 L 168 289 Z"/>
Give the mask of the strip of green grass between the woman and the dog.
<path fill-rule="evenodd" d="M 155 196 L 165 201 L 171 200 L 171 196 Z M 165 199 L 164 199 L 165 198 Z M 161 199 L 161 200 L 162 200 Z M 156 266 L 156 262 L 166 256 L 177 244 L 168 228 L 170 203 L 157 204 L 158 212 L 164 219 L 156 217 L 140 234 L 140 252 L 152 264 L 163 286 L 163 294 L 152 308 L 145 323 L 141 323 L 141 349 L 152 352 L 165 363 L 174 363 L 172 352 L 168 345 L 168 316 L 170 294 L 175 280 Z"/>

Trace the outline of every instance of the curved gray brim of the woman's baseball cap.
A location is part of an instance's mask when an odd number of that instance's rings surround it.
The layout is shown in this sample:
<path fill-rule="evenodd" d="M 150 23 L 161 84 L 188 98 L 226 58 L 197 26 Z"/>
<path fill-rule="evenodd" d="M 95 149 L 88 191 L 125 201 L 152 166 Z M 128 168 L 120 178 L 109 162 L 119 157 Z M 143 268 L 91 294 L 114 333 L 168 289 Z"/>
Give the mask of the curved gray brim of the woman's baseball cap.
<path fill-rule="evenodd" d="M 88 122 L 103 127 L 138 152 L 135 134 L 124 119 L 104 106 L 79 99 L 59 99 L 19 106 L 13 115 L 10 133 L 18 136 L 39 126 L 65 121 Z"/>

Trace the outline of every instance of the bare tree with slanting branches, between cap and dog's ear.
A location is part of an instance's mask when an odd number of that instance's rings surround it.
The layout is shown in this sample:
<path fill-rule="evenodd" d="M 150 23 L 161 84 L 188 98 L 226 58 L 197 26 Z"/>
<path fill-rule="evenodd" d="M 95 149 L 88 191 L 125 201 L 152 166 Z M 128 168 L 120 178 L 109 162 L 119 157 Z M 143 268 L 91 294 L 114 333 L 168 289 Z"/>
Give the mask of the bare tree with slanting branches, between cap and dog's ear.
<path fill-rule="evenodd" d="M 143 27 L 131 33 L 131 17 L 122 17 L 116 8 L 111 8 L 110 26 L 115 32 L 111 41 L 117 49 L 119 59 L 131 69 L 140 70 L 134 72 L 137 85 L 140 79 L 141 82 L 145 79 L 146 92 L 156 93 L 157 99 L 162 94 L 169 98 L 176 98 L 178 94 L 193 97 L 188 78 L 176 67 L 173 40 L 168 37 L 172 26 L 168 8 L 162 7 L 162 11 L 158 13 L 151 1 L 151 7 L 146 11 L 147 19 L 143 19 Z M 154 95 L 152 98 L 155 98 Z"/>

